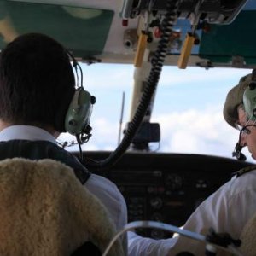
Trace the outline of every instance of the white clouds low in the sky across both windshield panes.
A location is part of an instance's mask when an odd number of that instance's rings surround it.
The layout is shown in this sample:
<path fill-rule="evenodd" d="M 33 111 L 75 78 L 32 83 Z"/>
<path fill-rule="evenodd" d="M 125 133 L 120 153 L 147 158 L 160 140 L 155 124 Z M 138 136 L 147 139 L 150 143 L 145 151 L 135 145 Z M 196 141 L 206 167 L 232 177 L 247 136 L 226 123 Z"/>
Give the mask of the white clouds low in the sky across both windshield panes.
<path fill-rule="evenodd" d="M 231 158 L 238 140 L 238 131 L 226 124 L 220 108 L 204 110 L 189 109 L 174 113 L 162 113 L 151 120 L 160 123 L 161 141 L 159 152 L 183 154 L 208 154 Z M 94 120 L 93 136 L 82 148 L 84 152 L 114 150 L 118 144 L 119 124 L 107 117 Z M 70 135 L 61 135 L 62 141 L 71 140 Z M 158 147 L 151 143 L 152 149 Z M 79 150 L 78 146 L 68 150 Z M 243 149 L 247 160 L 253 161 Z"/>

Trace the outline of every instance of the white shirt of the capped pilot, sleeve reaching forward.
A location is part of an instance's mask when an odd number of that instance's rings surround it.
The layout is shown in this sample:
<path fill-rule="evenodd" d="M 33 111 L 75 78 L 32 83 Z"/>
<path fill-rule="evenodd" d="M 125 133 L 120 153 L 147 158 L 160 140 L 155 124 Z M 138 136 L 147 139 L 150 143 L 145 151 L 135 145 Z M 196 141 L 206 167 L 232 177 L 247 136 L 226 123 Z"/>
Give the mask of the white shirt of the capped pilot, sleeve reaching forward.
<path fill-rule="evenodd" d="M 216 232 L 228 232 L 232 238 L 238 239 L 255 212 L 256 170 L 225 183 L 196 208 L 183 229 L 206 235 L 212 227 Z M 129 255 L 171 256 L 184 251 L 205 255 L 205 247 L 204 243 L 184 236 L 154 241 L 129 233 Z"/>

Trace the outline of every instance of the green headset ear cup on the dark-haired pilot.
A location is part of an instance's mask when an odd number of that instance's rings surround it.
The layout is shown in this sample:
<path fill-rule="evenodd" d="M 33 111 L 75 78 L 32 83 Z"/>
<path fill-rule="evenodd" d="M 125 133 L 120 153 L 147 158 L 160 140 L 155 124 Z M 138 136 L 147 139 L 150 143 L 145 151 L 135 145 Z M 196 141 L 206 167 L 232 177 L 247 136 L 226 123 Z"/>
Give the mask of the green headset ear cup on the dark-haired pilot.
<path fill-rule="evenodd" d="M 95 98 L 83 88 L 76 90 L 67 109 L 65 129 L 73 135 L 86 133 Z"/>

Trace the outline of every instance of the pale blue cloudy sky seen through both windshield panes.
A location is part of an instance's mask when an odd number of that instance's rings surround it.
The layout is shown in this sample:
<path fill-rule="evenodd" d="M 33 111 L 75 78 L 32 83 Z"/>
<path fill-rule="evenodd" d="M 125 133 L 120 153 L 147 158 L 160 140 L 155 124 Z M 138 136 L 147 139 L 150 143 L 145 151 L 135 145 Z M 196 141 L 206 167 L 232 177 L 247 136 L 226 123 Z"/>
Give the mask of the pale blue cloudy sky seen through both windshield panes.
<path fill-rule="evenodd" d="M 84 89 L 96 96 L 90 119 L 92 137 L 83 150 L 114 150 L 118 145 L 122 96 L 125 108 L 122 127 L 130 118 L 134 67 L 128 64 L 82 65 Z M 156 90 L 151 122 L 160 123 L 160 143 L 150 143 L 152 151 L 213 154 L 232 157 L 238 131 L 223 118 L 228 91 L 250 69 L 163 67 Z M 74 140 L 67 134 L 61 141 Z M 67 148 L 77 150 L 77 147 Z M 243 149 L 247 160 L 253 161 Z"/>

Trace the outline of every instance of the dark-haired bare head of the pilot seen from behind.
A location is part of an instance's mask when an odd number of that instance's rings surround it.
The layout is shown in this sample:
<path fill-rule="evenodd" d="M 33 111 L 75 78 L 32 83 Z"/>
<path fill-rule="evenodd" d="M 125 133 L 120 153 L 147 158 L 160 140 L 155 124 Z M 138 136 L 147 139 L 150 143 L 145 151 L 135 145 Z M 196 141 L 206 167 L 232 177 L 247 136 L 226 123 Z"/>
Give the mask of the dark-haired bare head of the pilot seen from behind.
<path fill-rule="evenodd" d="M 51 126 L 64 120 L 75 90 L 67 50 L 53 38 L 29 33 L 0 54 L 0 119 L 9 125 Z"/>

